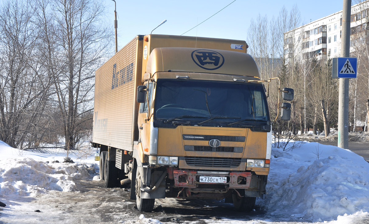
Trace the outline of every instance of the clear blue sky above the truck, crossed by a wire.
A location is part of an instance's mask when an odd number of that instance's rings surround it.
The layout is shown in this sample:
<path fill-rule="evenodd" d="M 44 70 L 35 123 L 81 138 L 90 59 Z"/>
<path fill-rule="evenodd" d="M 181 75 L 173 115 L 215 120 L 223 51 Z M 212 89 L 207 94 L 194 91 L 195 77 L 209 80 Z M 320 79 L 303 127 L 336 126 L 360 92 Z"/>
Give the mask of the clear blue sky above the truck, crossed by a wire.
<path fill-rule="evenodd" d="M 150 34 L 163 20 L 167 22 L 153 34 L 181 35 L 221 10 L 233 0 L 116 0 L 118 49 L 138 34 Z M 352 0 L 354 2 L 355 0 Z M 260 13 L 278 16 L 283 5 L 288 11 L 297 3 L 303 24 L 342 10 L 343 0 L 236 0 L 223 11 L 184 35 L 246 40 L 251 18 Z M 114 2 L 106 0 L 114 29 Z M 301 24 L 302 25 L 302 24 Z"/>

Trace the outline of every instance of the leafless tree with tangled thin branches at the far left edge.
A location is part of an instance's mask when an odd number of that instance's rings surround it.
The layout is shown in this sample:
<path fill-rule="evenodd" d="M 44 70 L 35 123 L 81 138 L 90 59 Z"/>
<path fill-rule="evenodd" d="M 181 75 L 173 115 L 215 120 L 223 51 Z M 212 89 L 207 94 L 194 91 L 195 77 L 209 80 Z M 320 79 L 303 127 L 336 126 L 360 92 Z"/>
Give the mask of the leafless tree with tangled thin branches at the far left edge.
<path fill-rule="evenodd" d="M 38 62 L 34 12 L 30 0 L 6 1 L 0 8 L 0 138 L 12 147 L 37 144 L 32 129 L 51 85 Z"/>

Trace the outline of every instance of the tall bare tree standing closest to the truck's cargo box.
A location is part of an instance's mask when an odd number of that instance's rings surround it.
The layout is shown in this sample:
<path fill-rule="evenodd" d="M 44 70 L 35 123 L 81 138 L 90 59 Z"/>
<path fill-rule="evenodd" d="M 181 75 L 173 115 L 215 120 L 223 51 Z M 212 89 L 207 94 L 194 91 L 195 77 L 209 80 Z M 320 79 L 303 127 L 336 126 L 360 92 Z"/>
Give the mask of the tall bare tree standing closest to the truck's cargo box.
<path fill-rule="evenodd" d="M 94 71 L 101 60 L 110 56 L 107 46 L 113 30 L 109 30 L 104 21 L 106 12 L 101 1 L 53 0 L 49 10 L 52 13 L 48 16 L 55 21 L 55 27 L 53 30 L 45 28 L 45 36 L 55 37 L 49 45 L 56 46 L 56 55 L 63 62 L 62 70 L 50 72 L 55 76 L 56 103 L 66 148 L 71 149 L 80 140 L 82 123 L 88 121 L 92 127 L 92 116 L 86 115 L 93 110 Z M 48 20 L 45 15 L 45 24 Z"/>

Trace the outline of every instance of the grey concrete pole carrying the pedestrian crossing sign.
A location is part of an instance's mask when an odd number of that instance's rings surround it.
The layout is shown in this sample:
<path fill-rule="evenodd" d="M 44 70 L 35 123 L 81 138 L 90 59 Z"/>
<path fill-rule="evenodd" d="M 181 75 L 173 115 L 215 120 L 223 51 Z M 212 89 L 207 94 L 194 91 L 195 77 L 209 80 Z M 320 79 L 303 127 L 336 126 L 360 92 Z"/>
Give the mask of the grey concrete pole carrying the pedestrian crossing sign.
<path fill-rule="evenodd" d="M 350 56 L 351 0 L 344 0 L 342 11 L 341 57 Z M 338 147 L 348 149 L 348 78 L 339 79 Z"/>

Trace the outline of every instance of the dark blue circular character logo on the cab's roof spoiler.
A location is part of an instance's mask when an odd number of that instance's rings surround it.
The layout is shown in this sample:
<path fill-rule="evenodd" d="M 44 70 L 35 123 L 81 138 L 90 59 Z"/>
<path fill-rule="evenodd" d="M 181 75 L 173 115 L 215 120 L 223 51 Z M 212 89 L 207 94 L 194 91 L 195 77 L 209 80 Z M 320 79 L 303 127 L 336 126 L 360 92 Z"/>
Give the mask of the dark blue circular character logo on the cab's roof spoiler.
<path fill-rule="evenodd" d="M 224 57 L 214 50 L 199 49 L 191 54 L 192 60 L 197 66 L 206 70 L 219 69 L 224 64 Z"/>

